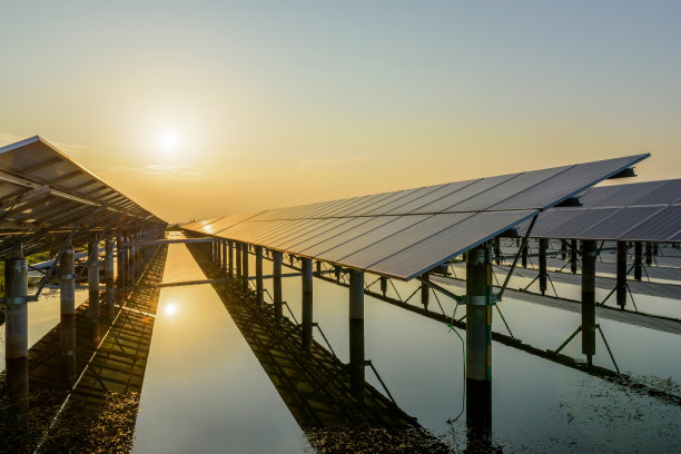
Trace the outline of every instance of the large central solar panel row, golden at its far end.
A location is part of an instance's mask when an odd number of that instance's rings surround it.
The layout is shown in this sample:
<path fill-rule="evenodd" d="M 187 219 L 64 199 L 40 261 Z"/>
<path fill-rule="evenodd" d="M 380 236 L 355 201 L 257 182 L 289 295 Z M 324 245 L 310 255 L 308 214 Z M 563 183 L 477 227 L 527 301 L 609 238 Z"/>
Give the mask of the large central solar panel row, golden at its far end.
<path fill-rule="evenodd" d="M 182 227 L 411 279 L 648 156 L 231 215 Z"/>

